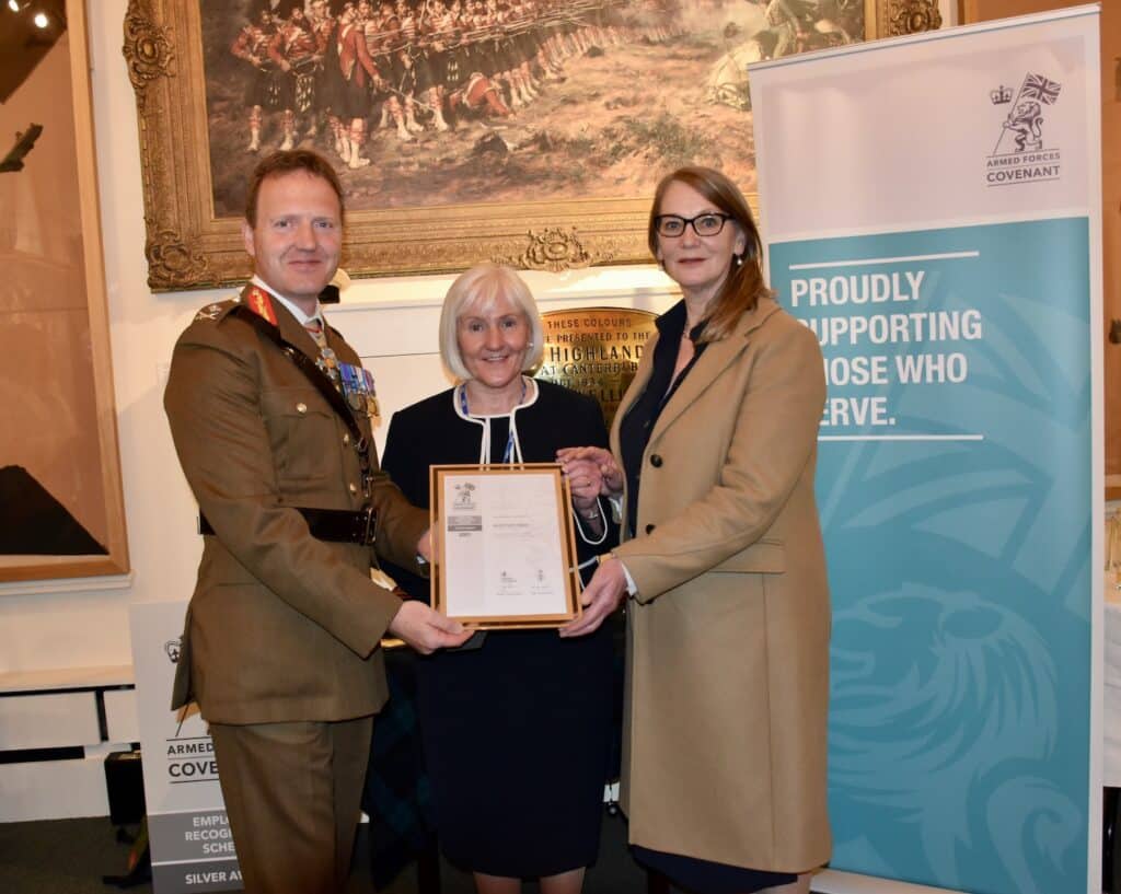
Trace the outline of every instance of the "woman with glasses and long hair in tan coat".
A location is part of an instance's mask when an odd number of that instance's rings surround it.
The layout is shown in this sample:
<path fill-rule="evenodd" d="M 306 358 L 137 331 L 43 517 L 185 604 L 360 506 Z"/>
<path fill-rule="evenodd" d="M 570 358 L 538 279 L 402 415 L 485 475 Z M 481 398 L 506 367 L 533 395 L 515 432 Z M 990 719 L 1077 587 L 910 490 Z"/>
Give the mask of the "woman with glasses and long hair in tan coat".
<path fill-rule="evenodd" d="M 562 635 L 630 595 L 622 805 L 638 859 L 703 894 L 805 892 L 831 848 L 822 355 L 763 283 L 751 212 L 722 174 L 666 177 L 649 244 L 684 300 L 619 408 L 618 463 L 558 454 L 572 474 L 597 465 L 626 541 Z"/>

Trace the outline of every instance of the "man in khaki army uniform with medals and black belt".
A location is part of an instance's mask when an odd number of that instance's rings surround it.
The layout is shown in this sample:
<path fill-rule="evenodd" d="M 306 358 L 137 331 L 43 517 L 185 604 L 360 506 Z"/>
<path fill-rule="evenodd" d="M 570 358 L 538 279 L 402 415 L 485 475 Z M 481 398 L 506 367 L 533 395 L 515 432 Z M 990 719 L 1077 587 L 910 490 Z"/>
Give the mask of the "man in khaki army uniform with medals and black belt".
<path fill-rule="evenodd" d="M 425 653 L 469 635 L 370 579 L 374 549 L 417 567 L 428 522 L 379 471 L 372 379 L 323 324 L 342 225 L 324 159 L 265 159 L 242 224 L 256 274 L 183 333 L 164 397 L 205 534 L 174 702 L 210 724 L 251 894 L 343 887 L 382 634 Z"/>

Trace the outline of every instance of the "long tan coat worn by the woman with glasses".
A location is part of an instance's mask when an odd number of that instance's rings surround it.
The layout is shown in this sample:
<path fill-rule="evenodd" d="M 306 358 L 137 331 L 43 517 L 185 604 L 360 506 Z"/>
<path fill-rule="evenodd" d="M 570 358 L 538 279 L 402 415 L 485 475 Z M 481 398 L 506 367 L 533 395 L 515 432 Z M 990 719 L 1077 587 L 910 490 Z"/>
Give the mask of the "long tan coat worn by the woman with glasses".
<path fill-rule="evenodd" d="M 617 456 L 652 360 L 651 343 Z M 830 857 L 824 400 L 816 337 L 767 299 L 705 350 L 654 427 L 638 536 L 615 550 L 638 588 L 622 779 L 634 844 L 776 872 Z"/>

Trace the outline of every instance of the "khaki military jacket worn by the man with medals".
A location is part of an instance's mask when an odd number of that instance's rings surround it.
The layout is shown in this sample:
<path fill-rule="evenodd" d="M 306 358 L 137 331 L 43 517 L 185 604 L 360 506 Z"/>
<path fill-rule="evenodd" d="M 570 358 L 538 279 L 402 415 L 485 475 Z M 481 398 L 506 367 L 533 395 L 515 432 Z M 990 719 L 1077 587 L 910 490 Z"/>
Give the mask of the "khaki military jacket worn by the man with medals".
<path fill-rule="evenodd" d="M 361 509 L 358 455 L 325 398 L 233 306 L 212 305 L 183 333 L 164 395 L 215 531 L 204 539 L 175 700 L 194 697 L 207 720 L 226 724 L 372 714 L 388 696 L 378 644 L 400 603 L 370 580 L 370 547 L 317 540 L 294 509 Z M 272 307 L 281 336 L 318 356 L 291 314 Z M 326 337 L 339 360 L 360 364 L 337 332 Z M 377 468 L 372 447 L 371 460 Z M 370 500 L 378 553 L 416 567 L 427 513 L 380 472 Z"/>

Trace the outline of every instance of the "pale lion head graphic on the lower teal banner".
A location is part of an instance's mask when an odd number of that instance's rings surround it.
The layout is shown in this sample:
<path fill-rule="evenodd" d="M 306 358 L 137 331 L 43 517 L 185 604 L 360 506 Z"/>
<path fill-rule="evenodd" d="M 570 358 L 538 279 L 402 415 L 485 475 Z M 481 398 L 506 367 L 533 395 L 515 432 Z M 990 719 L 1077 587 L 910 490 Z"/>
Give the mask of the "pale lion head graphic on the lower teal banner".
<path fill-rule="evenodd" d="M 1056 747 L 1059 674 L 1031 622 L 981 595 L 919 584 L 867 596 L 834 621 L 844 646 L 833 649 L 832 809 L 844 802 L 850 818 L 892 811 L 899 830 L 839 849 L 926 866 L 924 881 L 957 888 L 960 857 L 988 838 L 1003 884 L 1054 890 L 1032 877 L 1025 850 L 1041 850 L 1059 876 L 1081 820 L 1034 770 Z M 901 651 L 900 642 L 919 646 Z M 994 826 L 1009 802 L 1034 807 Z"/>

